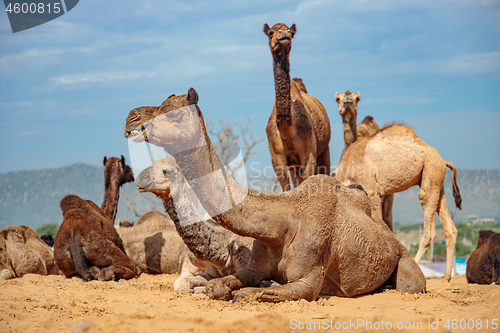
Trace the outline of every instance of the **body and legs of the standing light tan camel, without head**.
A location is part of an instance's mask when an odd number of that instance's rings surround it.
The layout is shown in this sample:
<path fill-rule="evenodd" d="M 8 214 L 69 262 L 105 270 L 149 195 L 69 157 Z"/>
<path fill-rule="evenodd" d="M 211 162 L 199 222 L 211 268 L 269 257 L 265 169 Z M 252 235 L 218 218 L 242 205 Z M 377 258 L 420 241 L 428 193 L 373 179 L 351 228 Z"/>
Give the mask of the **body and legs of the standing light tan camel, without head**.
<path fill-rule="evenodd" d="M 452 170 L 453 196 L 461 208 L 457 169 L 438 151 L 422 141 L 405 125 L 389 125 L 368 140 L 358 140 L 345 150 L 335 177 L 344 185 L 362 184 L 370 198 L 372 218 L 382 221 L 382 198 L 419 185 L 418 198 L 424 209 L 424 233 L 415 256 L 418 263 L 436 237 L 436 212 L 446 237 L 446 273 L 451 268 L 457 229 L 453 224 L 444 195 L 446 167 Z"/>

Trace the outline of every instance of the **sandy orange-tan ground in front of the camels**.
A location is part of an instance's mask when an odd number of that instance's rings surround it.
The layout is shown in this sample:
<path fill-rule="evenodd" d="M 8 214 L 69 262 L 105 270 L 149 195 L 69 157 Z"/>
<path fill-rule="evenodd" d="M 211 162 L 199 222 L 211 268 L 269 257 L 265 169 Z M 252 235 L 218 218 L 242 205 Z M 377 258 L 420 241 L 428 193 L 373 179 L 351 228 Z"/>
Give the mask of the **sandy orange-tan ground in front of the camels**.
<path fill-rule="evenodd" d="M 177 277 L 84 283 L 29 274 L 0 281 L 0 332 L 289 332 L 314 325 L 320 331 L 500 332 L 492 327 L 500 326 L 500 286 L 469 285 L 465 276 L 427 280 L 420 295 L 386 290 L 280 304 L 179 295 L 172 287 Z"/>

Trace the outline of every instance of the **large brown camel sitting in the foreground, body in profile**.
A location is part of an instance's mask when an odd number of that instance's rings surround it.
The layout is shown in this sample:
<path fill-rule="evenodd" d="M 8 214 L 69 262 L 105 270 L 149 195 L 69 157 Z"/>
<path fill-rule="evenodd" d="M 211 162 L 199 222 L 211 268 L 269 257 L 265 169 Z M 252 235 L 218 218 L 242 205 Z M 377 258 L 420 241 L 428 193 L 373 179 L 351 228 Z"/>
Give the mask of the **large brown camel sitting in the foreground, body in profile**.
<path fill-rule="evenodd" d="M 364 191 L 327 175 L 309 177 L 281 193 L 243 187 L 215 153 L 197 103 L 198 93 L 191 88 L 165 100 L 154 119 L 131 110 L 124 133 L 135 142 L 162 147 L 215 222 L 255 239 L 247 267 L 207 283 L 213 298 L 312 301 L 319 294 L 353 297 L 386 284 L 425 292 L 425 278 L 410 253 L 385 223 L 370 217 Z M 196 227 L 186 218 L 189 212 L 181 215 L 181 225 Z M 276 283 L 254 288 L 265 280 Z"/>

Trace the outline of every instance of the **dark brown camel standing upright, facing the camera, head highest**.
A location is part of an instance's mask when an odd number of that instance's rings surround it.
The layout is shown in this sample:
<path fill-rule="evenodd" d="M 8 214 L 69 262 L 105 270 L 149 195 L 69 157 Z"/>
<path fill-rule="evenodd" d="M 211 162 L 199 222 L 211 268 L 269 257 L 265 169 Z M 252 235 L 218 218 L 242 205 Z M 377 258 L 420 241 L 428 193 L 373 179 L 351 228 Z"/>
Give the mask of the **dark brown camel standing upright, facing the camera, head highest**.
<path fill-rule="evenodd" d="M 289 54 L 296 28 L 277 23 L 264 25 L 273 56 L 276 100 L 266 127 L 271 161 L 283 191 L 307 177 L 330 174 L 330 121 L 316 97 L 307 93 L 301 79 L 290 81 Z"/>

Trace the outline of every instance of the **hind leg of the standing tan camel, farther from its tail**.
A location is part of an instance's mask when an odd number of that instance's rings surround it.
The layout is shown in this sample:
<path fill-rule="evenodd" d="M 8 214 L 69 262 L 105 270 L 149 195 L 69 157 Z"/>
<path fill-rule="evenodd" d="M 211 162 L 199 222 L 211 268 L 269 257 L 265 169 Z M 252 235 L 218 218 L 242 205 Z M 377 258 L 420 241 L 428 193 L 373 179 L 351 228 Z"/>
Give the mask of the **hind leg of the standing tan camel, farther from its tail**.
<path fill-rule="evenodd" d="M 418 198 L 424 209 L 424 233 L 415 256 L 417 264 L 424 256 L 431 242 L 436 238 L 436 209 L 439 201 L 439 191 L 436 188 L 432 188 L 430 183 L 429 180 L 424 181 L 424 177 L 422 177 L 422 184 L 418 193 Z"/>

